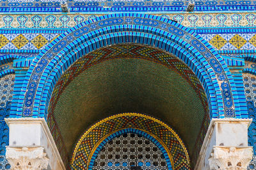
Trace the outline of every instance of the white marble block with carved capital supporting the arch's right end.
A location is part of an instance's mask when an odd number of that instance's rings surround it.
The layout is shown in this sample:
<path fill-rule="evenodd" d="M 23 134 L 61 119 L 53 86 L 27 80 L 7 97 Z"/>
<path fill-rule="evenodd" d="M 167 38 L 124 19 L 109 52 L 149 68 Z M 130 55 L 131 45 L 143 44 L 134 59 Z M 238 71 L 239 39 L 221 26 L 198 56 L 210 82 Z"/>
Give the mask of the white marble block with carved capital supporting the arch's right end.
<path fill-rule="evenodd" d="M 252 119 L 212 119 L 195 169 L 246 169 L 252 160 L 248 127 Z"/>

